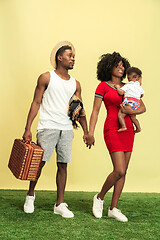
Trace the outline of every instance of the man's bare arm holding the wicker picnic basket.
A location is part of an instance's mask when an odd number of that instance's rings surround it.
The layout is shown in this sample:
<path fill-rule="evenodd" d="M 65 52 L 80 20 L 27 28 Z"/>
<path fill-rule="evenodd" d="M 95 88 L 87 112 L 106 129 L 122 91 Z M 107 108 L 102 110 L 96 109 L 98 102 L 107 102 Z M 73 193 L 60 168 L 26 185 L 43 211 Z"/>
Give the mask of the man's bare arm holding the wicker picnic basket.
<path fill-rule="evenodd" d="M 40 77 L 38 78 L 37 86 L 34 92 L 34 98 L 28 113 L 27 123 L 23 134 L 23 139 L 25 141 L 28 139 L 32 140 L 31 125 L 34 118 L 37 116 L 42 101 L 42 96 L 45 89 L 48 86 L 49 79 L 50 79 L 49 72 L 41 74 Z"/>

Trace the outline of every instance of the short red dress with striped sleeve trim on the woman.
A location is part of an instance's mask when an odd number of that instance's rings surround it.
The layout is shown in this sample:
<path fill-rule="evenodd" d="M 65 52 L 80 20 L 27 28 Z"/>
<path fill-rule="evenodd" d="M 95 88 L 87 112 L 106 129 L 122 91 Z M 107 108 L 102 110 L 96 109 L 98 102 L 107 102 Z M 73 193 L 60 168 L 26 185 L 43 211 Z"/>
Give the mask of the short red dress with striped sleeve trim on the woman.
<path fill-rule="evenodd" d="M 104 123 L 104 140 L 109 153 L 119 151 L 132 152 L 134 142 L 134 129 L 130 117 L 125 117 L 127 130 L 117 132 L 120 128 L 118 121 L 118 111 L 122 103 L 122 96 L 120 96 L 116 88 L 109 85 L 107 82 L 101 82 L 95 92 L 96 97 L 103 99 L 107 118 Z"/>

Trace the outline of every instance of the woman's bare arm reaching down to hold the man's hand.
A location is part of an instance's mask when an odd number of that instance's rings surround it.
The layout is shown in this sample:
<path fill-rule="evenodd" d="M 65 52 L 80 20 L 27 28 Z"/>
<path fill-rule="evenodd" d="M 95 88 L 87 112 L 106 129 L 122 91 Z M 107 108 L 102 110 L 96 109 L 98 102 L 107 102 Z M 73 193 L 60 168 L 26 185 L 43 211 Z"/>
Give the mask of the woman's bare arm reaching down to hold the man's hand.
<path fill-rule="evenodd" d="M 92 145 L 94 145 L 94 142 L 95 142 L 94 131 L 95 131 L 96 123 L 98 120 L 98 114 L 99 114 L 101 104 L 102 104 L 102 98 L 95 97 L 94 103 L 93 103 L 93 110 L 92 110 L 92 114 L 89 122 L 89 133 L 87 138 L 87 147 L 89 146 L 89 149 L 91 148 Z"/>

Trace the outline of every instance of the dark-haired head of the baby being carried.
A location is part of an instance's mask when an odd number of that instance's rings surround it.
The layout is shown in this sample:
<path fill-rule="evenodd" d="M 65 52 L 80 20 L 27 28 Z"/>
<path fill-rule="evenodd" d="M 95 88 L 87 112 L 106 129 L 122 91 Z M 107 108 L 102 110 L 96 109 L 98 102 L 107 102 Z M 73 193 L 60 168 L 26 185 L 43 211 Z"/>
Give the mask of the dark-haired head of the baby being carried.
<path fill-rule="evenodd" d="M 136 67 L 129 67 L 126 71 L 128 81 L 141 81 L 142 79 L 142 71 Z"/>

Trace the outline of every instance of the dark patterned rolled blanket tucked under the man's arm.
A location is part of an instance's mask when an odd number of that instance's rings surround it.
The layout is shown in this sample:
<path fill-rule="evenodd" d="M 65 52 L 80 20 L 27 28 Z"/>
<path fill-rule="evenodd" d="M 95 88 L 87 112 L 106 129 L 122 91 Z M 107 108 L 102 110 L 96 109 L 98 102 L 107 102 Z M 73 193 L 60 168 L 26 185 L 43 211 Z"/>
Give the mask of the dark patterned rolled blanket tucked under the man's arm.
<path fill-rule="evenodd" d="M 82 101 L 74 94 L 69 101 L 68 116 L 72 121 L 74 128 L 77 128 L 77 122 L 79 122 L 80 117 L 85 116 L 85 110 L 83 109 Z"/>

